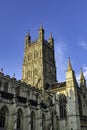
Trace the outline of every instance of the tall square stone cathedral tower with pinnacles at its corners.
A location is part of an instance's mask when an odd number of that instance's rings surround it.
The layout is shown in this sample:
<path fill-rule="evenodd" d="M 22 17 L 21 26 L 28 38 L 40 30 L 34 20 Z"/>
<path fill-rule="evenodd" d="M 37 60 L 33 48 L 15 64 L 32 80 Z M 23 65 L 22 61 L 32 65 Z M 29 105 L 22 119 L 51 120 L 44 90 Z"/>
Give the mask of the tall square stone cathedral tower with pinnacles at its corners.
<path fill-rule="evenodd" d="M 31 41 L 29 33 L 25 38 L 22 81 L 39 89 L 48 89 L 56 82 L 54 39 L 52 34 L 48 41 L 44 39 L 42 26 L 37 40 Z"/>

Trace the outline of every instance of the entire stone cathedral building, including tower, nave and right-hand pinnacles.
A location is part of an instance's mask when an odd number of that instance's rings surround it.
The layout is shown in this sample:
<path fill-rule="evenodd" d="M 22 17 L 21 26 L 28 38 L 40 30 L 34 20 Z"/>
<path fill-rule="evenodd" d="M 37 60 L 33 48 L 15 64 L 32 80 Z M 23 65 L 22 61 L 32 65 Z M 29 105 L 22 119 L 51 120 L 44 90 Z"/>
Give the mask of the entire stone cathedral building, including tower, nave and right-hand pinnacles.
<path fill-rule="evenodd" d="M 87 130 L 87 88 L 68 59 L 66 81 L 57 82 L 52 34 L 25 38 L 22 80 L 0 72 L 0 130 Z"/>

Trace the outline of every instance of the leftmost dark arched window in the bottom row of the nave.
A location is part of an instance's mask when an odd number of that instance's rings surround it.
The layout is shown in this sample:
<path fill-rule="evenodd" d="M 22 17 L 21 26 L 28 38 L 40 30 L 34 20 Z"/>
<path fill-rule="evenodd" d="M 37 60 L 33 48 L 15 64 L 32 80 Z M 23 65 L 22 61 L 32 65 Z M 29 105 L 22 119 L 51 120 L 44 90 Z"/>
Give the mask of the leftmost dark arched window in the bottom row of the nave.
<path fill-rule="evenodd" d="M 8 121 L 8 109 L 6 107 L 2 107 L 0 110 L 0 128 L 7 128 Z"/>

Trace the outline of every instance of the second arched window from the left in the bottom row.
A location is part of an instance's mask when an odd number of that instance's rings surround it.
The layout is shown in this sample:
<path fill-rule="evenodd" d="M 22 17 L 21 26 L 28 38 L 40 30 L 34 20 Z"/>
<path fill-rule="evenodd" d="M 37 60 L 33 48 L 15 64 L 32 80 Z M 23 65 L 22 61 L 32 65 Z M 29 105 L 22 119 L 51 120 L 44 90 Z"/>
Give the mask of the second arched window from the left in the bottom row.
<path fill-rule="evenodd" d="M 21 109 L 17 112 L 17 130 L 22 130 L 23 126 L 23 112 Z"/>

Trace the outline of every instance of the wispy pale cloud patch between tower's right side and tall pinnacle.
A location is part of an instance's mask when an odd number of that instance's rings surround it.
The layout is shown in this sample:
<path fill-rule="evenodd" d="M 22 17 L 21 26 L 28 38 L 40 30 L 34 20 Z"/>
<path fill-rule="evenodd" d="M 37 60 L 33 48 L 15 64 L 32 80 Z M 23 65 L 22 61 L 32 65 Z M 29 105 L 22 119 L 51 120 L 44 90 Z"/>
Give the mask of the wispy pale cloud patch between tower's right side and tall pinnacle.
<path fill-rule="evenodd" d="M 65 71 L 66 71 L 66 44 L 63 42 L 57 42 L 55 44 L 55 56 L 56 56 L 56 67 L 57 67 L 57 78 L 58 81 L 65 80 Z"/>

